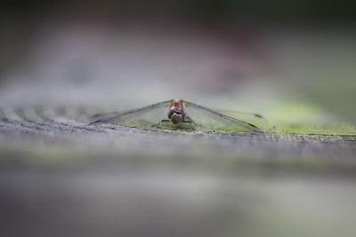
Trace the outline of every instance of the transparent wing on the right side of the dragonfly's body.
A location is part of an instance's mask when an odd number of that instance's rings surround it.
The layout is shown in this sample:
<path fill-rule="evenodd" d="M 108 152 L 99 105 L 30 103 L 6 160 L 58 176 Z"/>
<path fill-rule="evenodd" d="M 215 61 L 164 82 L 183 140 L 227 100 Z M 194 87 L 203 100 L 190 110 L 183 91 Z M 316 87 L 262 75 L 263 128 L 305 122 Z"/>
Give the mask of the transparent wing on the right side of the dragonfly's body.
<path fill-rule="evenodd" d="M 223 115 L 208 107 L 184 101 L 187 106 L 187 115 L 193 122 L 207 129 L 218 130 L 244 130 L 249 132 L 263 132 L 255 124 L 246 122 L 238 118 Z M 255 116 L 258 118 L 258 116 Z"/>

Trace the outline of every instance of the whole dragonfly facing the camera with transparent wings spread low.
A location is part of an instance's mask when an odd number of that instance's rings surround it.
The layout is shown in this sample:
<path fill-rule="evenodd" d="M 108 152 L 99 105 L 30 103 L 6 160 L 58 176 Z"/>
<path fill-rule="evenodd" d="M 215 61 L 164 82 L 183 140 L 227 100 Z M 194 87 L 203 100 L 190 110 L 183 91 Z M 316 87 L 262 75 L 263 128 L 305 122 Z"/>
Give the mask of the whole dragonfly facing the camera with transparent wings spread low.
<path fill-rule="evenodd" d="M 239 113 L 253 116 L 257 121 L 263 120 L 262 115 Z M 156 119 L 154 117 L 156 116 Z M 152 122 L 153 121 L 153 122 Z M 128 110 L 122 113 L 95 116 L 88 125 L 110 123 L 127 127 L 157 126 L 162 128 L 164 124 L 179 126 L 190 124 L 196 127 L 221 129 L 232 128 L 247 132 L 263 133 L 263 130 L 252 122 L 240 120 L 229 115 L 223 115 L 209 107 L 203 107 L 196 103 L 182 100 L 169 99 L 146 107 Z"/>

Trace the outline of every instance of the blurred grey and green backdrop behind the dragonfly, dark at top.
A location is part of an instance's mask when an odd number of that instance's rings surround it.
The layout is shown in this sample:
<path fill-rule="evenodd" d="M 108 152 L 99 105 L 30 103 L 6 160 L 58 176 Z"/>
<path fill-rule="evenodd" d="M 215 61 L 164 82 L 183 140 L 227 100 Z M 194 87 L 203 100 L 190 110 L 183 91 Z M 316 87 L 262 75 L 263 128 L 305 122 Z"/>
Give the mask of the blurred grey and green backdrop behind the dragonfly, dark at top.
<path fill-rule="evenodd" d="M 348 1 L 0 2 L 4 104 L 181 98 L 278 121 L 354 121 Z"/>

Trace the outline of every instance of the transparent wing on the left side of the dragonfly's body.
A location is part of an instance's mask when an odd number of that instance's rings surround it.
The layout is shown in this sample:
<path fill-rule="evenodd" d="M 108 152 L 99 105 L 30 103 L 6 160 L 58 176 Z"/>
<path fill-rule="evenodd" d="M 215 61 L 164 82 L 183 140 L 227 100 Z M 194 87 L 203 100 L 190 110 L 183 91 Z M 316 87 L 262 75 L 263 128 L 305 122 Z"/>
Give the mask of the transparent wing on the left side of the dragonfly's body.
<path fill-rule="evenodd" d="M 168 105 L 171 100 L 158 102 L 156 104 L 141 107 L 122 113 L 97 115 L 89 125 L 110 123 L 128 127 L 150 127 L 158 125 L 162 119 L 167 119 Z"/>

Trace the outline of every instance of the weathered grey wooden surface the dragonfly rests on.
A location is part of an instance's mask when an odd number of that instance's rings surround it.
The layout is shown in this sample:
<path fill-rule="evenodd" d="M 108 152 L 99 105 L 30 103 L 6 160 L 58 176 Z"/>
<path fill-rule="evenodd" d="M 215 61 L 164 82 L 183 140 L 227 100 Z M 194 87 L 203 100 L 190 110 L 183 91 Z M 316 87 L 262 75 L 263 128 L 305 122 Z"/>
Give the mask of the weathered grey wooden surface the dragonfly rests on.
<path fill-rule="evenodd" d="M 90 114 L 2 108 L 3 236 L 356 233 L 354 136 L 104 128 Z"/>

